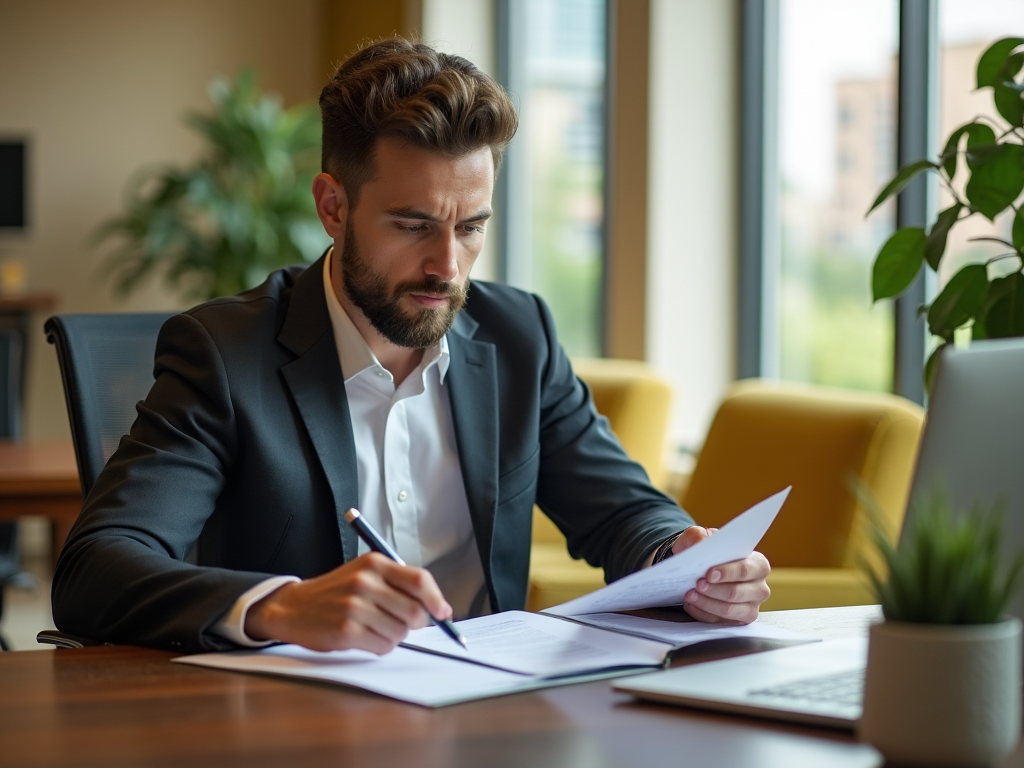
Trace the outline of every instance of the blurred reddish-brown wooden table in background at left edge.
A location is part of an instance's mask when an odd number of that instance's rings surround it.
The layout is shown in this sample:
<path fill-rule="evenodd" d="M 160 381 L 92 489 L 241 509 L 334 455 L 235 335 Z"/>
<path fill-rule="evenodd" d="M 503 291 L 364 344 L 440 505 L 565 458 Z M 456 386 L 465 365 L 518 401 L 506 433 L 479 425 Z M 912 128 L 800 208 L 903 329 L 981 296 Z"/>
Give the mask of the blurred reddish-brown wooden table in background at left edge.
<path fill-rule="evenodd" d="M 0 520 L 49 518 L 56 557 L 81 510 L 82 486 L 71 440 L 0 440 Z"/>

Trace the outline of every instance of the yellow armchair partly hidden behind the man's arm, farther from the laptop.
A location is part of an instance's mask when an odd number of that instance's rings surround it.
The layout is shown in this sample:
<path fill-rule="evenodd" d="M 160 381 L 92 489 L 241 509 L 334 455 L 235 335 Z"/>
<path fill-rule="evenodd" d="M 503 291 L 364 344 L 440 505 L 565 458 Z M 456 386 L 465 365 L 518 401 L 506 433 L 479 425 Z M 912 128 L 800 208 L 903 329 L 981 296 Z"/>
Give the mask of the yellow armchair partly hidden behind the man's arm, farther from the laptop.
<path fill-rule="evenodd" d="M 671 386 L 637 360 L 577 359 L 572 367 L 590 387 L 598 413 L 608 419 L 626 453 L 647 470 L 655 485 L 662 485 Z M 604 571 L 569 557 L 565 537 L 535 507 L 527 609 L 558 605 L 603 586 Z"/>

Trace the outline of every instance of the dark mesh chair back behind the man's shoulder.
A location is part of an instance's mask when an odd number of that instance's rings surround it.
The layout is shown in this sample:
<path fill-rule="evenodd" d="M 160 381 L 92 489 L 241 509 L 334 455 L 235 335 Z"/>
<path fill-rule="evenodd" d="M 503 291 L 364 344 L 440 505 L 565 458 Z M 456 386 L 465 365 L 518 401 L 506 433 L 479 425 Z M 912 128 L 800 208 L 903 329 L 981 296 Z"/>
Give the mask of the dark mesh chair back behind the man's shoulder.
<path fill-rule="evenodd" d="M 135 421 L 135 404 L 153 386 L 154 351 L 171 315 L 62 314 L 46 322 L 56 346 L 82 492 Z"/>

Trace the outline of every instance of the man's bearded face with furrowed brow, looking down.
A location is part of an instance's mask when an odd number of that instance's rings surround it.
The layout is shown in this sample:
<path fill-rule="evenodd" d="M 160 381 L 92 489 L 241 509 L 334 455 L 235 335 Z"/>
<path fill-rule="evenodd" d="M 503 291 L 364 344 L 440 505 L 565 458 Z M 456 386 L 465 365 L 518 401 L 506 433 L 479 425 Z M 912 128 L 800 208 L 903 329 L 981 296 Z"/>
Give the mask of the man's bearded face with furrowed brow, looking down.
<path fill-rule="evenodd" d="M 382 139 L 377 175 L 348 212 L 341 278 L 347 298 L 392 344 L 425 348 L 452 328 L 490 216 L 494 161 Z"/>

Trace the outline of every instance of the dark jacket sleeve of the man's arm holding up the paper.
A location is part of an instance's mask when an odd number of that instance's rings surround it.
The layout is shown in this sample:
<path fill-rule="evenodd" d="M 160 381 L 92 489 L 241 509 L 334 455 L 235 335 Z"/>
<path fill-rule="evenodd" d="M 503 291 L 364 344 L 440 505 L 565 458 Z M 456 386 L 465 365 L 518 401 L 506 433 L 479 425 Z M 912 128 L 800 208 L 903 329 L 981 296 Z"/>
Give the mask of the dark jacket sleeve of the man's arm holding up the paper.
<path fill-rule="evenodd" d="M 548 307 L 536 300 L 549 350 L 541 384 L 538 505 L 565 535 L 569 554 L 603 567 L 610 583 L 638 570 L 693 520 L 626 455 L 572 373 Z"/>

